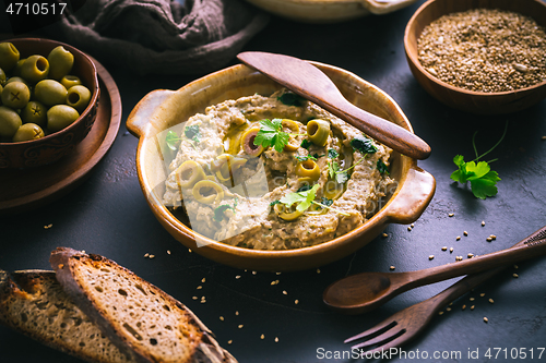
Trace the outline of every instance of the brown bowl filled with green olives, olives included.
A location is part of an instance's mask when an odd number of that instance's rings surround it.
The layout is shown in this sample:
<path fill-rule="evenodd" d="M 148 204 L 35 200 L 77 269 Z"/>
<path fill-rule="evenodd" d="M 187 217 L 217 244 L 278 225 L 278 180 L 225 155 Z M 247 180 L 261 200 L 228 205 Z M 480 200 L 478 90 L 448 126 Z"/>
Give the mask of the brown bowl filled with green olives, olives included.
<path fill-rule="evenodd" d="M 51 164 L 72 153 L 97 114 L 98 77 L 76 48 L 41 38 L 0 43 L 0 168 Z"/>

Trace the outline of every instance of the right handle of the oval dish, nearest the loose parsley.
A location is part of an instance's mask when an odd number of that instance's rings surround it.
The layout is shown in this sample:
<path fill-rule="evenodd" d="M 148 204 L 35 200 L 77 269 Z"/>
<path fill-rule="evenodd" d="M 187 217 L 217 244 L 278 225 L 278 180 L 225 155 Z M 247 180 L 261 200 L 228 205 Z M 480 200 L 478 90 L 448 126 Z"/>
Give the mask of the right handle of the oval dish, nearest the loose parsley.
<path fill-rule="evenodd" d="M 393 195 L 389 206 L 390 222 L 407 225 L 420 217 L 436 191 L 435 178 L 414 162 L 407 172 L 402 189 Z"/>

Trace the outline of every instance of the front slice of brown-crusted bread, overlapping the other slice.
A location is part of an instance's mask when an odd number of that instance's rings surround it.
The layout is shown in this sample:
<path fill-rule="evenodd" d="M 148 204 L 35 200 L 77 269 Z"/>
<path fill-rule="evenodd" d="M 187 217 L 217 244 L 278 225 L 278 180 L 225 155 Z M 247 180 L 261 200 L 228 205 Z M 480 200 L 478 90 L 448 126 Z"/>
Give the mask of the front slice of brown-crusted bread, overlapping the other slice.
<path fill-rule="evenodd" d="M 115 262 L 59 247 L 50 263 L 78 306 L 138 362 L 237 362 L 188 307 Z"/>

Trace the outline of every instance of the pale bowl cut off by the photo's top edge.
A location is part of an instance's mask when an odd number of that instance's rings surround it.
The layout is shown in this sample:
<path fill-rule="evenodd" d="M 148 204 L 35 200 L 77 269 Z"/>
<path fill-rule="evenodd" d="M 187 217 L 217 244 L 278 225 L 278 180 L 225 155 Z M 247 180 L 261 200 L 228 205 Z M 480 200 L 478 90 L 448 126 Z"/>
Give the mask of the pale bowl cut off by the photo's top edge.
<path fill-rule="evenodd" d="M 247 0 L 273 14 L 304 23 L 339 23 L 387 14 L 415 0 Z"/>

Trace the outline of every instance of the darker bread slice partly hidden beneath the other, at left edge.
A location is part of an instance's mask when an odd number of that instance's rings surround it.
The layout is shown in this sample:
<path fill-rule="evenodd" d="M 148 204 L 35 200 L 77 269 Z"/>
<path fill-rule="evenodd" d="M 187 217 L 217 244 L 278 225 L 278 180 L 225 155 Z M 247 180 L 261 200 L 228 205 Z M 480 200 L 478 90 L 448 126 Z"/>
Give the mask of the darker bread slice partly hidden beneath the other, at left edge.
<path fill-rule="evenodd" d="M 54 271 L 0 270 L 0 323 L 88 362 L 134 362 L 74 305 Z"/>

